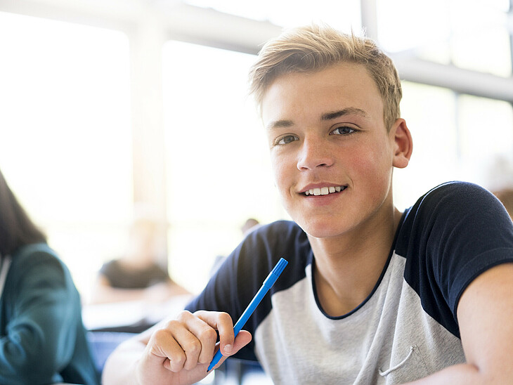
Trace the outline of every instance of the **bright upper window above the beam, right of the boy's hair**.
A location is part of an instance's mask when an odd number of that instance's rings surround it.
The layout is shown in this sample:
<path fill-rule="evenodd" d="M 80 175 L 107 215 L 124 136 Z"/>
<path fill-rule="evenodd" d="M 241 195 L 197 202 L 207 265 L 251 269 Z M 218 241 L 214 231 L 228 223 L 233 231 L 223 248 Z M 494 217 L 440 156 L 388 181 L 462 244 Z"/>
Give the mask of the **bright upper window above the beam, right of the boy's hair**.
<path fill-rule="evenodd" d="M 379 43 L 389 52 L 509 77 L 508 9 L 509 0 L 378 0 Z"/>

